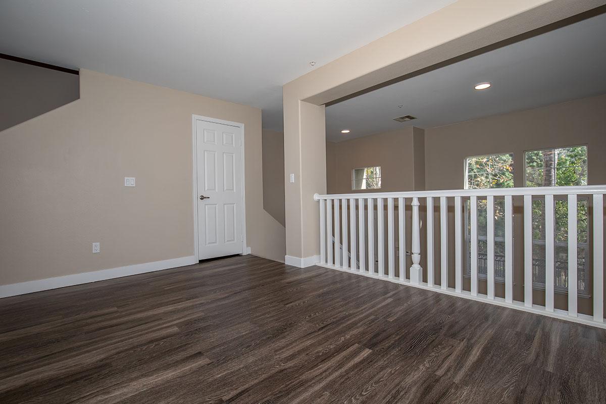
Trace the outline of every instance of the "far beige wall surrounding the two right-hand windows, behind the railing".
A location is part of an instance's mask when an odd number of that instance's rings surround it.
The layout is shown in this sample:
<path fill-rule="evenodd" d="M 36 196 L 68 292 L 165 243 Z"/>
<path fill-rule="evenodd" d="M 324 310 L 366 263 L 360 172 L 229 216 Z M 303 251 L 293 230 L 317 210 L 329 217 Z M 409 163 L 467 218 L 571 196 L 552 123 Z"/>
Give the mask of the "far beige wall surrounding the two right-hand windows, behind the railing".
<path fill-rule="evenodd" d="M 588 182 L 606 184 L 606 94 L 519 111 L 475 121 L 425 130 L 425 180 L 428 190 L 460 189 L 464 185 L 464 159 L 490 153 L 513 153 L 514 185 L 524 186 L 524 151 L 548 147 L 587 145 Z M 450 201 L 452 205 L 453 202 Z M 449 230 L 454 237 L 454 210 L 450 206 Z M 436 202 L 436 217 L 439 215 Z M 523 202 L 514 198 L 514 299 L 523 299 Z M 439 234 L 436 219 L 435 234 Z M 439 268 L 439 237 L 436 237 L 436 267 Z M 454 250 L 450 245 L 450 267 Z M 439 278 L 439 270 L 436 273 Z M 450 285 L 454 285 L 451 276 Z M 480 282 L 485 293 L 485 282 Z M 502 285 L 496 293 L 503 296 Z M 534 291 L 536 302 L 544 301 L 544 292 Z M 590 313 L 588 299 L 579 299 L 579 311 Z M 566 308 L 565 295 L 556 294 L 556 308 Z"/>

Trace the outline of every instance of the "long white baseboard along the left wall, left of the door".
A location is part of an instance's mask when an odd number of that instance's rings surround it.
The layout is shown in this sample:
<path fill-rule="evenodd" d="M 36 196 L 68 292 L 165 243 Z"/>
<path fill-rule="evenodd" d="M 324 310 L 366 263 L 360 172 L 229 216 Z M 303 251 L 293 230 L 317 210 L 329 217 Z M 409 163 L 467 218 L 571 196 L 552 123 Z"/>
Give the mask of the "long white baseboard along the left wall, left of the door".
<path fill-rule="evenodd" d="M 97 282 L 98 280 L 114 279 L 123 276 L 143 274 L 146 272 L 167 270 L 168 268 L 184 267 L 185 265 L 191 265 L 194 263 L 198 263 L 198 259 L 195 256 L 188 256 L 165 259 L 156 262 L 138 263 L 135 265 L 127 265 L 126 267 L 111 268 L 108 270 L 30 280 L 29 282 L 12 283 L 11 285 L 0 285 L 0 298 L 63 288 L 65 286 L 81 285 L 82 283 Z"/>

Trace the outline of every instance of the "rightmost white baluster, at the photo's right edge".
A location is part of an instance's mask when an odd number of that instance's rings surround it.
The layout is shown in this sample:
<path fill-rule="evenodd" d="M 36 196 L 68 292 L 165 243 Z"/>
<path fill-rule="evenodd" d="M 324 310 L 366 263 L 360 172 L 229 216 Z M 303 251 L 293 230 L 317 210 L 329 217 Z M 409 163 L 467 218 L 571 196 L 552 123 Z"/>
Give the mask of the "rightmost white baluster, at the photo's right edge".
<path fill-rule="evenodd" d="M 604 195 L 593 195 L 593 320 L 604 322 Z"/>

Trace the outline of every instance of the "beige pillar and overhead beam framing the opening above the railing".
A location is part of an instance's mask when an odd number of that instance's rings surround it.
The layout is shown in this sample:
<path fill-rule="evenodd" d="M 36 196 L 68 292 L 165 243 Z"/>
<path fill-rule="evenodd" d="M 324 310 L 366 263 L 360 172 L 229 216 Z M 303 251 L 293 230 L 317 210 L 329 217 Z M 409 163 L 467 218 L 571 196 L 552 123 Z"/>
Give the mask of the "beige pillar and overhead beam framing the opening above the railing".
<path fill-rule="evenodd" d="M 313 194 L 325 192 L 327 180 L 325 114 L 319 105 L 604 3 L 458 0 L 285 84 L 284 173 L 297 179 L 285 185 L 287 254 L 305 258 L 319 254 L 319 204 Z"/>

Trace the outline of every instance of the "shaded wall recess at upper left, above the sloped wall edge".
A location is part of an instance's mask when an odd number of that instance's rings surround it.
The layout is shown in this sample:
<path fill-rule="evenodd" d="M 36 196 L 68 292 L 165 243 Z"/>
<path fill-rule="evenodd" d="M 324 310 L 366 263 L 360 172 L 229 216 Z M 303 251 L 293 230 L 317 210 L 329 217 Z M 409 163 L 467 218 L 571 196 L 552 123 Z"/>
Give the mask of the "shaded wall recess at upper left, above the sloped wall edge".
<path fill-rule="evenodd" d="M 78 75 L 0 59 L 0 131 L 79 97 Z"/>

